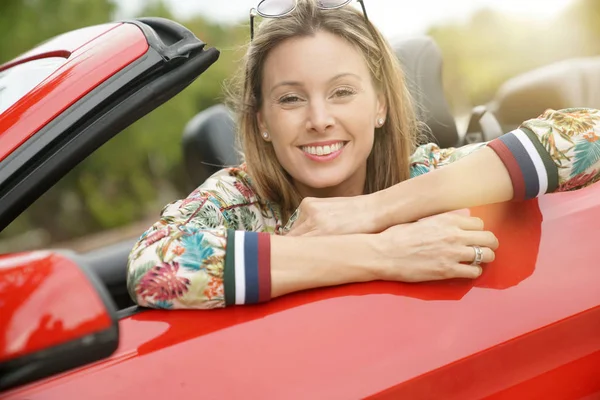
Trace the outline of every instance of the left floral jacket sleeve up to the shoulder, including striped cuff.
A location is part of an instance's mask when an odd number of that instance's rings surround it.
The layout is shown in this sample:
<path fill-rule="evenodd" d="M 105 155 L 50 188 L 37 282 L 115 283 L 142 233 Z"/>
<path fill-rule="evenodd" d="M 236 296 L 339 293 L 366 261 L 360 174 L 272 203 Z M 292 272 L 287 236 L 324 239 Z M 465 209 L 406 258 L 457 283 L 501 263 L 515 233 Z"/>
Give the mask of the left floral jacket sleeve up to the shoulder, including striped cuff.
<path fill-rule="evenodd" d="M 269 242 L 263 222 L 245 172 L 220 171 L 166 206 L 138 240 L 129 255 L 130 296 L 141 306 L 167 309 L 268 300 L 268 275 L 259 274 Z"/>

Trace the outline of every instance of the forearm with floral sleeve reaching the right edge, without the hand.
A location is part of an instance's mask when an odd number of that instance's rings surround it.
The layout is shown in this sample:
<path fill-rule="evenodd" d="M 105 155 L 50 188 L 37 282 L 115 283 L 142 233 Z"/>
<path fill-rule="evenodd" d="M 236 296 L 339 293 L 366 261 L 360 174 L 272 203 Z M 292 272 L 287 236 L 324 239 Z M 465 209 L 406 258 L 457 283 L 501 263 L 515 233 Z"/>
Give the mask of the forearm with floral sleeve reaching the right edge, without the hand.
<path fill-rule="evenodd" d="M 438 150 L 432 172 L 375 194 L 379 224 L 589 185 L 600 179 L 597 133 L 598 110 L 548 110 L 464 158 Z"/>

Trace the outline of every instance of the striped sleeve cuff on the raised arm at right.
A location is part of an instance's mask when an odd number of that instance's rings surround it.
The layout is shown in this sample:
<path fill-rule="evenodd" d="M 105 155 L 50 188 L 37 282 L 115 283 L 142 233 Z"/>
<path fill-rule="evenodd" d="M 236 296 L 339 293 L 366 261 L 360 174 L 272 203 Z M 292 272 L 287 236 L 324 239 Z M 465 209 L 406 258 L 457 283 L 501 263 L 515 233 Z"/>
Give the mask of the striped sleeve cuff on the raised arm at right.
<path fill-rule="evenodd" d="M 521 127 L 488 143 L 512 180 L 513 200 L 551 193 L 558 187 L 558 168 L 537 136 Z"/>

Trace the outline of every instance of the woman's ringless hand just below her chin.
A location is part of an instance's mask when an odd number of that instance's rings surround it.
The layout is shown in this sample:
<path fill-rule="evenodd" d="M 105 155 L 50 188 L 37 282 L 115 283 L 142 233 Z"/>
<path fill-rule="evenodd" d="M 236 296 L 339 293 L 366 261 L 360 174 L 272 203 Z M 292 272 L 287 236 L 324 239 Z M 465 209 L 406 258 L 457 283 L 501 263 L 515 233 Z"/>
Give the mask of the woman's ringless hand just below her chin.
<path fill-rule="evenodd" d="M 377 232 L 370 195 L 306 197 L 284 228 L 287 236 L 347 235 Z"/>

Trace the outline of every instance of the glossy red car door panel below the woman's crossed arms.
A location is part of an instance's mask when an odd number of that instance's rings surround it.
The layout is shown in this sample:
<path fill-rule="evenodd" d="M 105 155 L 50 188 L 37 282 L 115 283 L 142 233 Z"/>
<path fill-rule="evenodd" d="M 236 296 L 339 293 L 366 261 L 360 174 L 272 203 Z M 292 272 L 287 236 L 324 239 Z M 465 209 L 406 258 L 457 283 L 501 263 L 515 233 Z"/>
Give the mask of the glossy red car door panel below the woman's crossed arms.
<path fill-rule="evenodd" d="M 596 184 L 472 210 L 501 243 L 474 282 L 144 312 L 110 359 L 6 398 L 600 398 L 599 199 Z"/>

